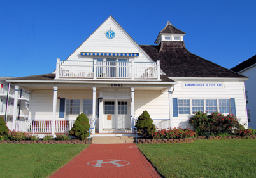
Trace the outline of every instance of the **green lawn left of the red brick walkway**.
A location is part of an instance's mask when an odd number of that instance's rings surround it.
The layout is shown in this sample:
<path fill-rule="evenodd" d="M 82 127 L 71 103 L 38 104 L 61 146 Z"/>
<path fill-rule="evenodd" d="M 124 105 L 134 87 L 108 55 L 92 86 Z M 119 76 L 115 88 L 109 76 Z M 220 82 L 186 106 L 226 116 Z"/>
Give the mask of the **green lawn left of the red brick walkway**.
<path fill-rule="evenodd" d="M 0 144 L 0 177 L 48 177 L 85 144 Z"/>

